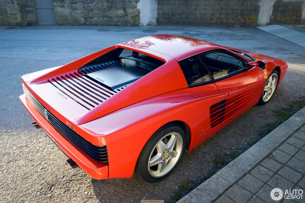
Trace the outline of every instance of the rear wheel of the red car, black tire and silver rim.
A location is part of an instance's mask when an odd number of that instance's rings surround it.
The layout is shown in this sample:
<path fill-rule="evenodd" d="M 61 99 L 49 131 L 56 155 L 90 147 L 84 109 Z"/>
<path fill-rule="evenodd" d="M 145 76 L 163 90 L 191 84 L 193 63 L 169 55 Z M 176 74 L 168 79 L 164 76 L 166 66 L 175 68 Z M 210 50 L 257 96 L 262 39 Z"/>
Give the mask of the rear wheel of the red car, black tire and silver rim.
<path fill-rule="evenodd" d="M 175 139 L 174 137 L 177 137 L 175 144 L 173 141 Z M 170 140 L 170 139 L 172 139 L 172 140 Z M 157 144 L 159 142 L 163 142 L 163 143 L 165 143 L 165 145 L 166 145 L 166 143 L 168 145 L 170 143 L 173 143 L 172 144 L 172 146 L 174 146 L 173 150 L 168 151 L 168 153 L 166 151 L 166 153 L 163 153 L 164 155 L 163 154 L 160 155 L 158 150 L 160 151 L 161 148 L 157 147 Z M 163 145 L 162 143 L 159 143 L 159 144 Z M 147 141 L 147 143 L 143 147 L 143 149 L 139 155 L 137 164 L 136 164 L 136 168 L 135 168 L 136 175 L 149 183 L 155 183 L 155 182 L 158 182 L 158 181 L 164 179 L 178 165 L 181 157 L 184 154 L 185 144 L 186 144 L 185 132 L 179 125 L 176 125 L 176 124 L 164 125 L 150 137 L 150 139 Z M 167 149 L 167 150 L 170 150 L 170 149 Z M 180 153 L 179 153 L 179 150 L 181 150 Z M 176 156 L 174 155 L 174 153 L 177 153 Z M 156 159 L 158 161 L 161 160 L 162 163 L 149 167 L 150 158 L 157 157 L 157 156 L 162 156 L 160 159 L 159 158 Z M 159 165 L 163 165 L 163 161 L 164 161 L 164 165 L 165 165 L 164 170 L 162 172 L 159 172 L 158 171 Z M 162 166 L 160 166 L 160 168 L 162 168 Z"/>

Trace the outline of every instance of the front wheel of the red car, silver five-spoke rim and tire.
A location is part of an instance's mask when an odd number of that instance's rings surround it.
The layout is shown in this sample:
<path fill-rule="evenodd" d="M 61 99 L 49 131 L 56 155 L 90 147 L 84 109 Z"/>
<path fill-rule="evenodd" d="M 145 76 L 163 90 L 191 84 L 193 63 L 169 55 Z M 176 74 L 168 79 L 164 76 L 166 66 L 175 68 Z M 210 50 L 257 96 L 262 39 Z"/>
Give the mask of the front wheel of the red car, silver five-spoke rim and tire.
<path fill-rule="evenodd" d="M 263 93 L 260 96 L 260 101 L 258 102 L 260 105 L 266 104 L 271 99 L 277 84 L 278 84 L 278 71 L 273 70 L 269 78 L 267 79 Z"/>

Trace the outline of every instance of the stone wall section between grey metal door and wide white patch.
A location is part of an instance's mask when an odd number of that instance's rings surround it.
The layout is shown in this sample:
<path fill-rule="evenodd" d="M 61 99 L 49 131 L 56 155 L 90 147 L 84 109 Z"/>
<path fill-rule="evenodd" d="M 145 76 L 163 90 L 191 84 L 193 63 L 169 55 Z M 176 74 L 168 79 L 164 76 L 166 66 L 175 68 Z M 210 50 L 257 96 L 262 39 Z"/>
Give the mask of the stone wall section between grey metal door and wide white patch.
<path fill-rule="evenodd" d="M 138 26 L 139 0 L 53 0 L 57 25 Z"/>

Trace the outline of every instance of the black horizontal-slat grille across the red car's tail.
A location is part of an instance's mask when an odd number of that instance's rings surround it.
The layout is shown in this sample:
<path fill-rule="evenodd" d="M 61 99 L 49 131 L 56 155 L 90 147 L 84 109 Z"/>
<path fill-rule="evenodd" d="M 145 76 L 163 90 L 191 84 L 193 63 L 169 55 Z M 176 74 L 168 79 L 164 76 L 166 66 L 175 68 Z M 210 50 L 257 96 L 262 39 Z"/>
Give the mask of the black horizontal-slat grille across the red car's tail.
<path fill-rule="evenodd" d="M 59 131 L 63 136 L 70 140 L 70 142 L 72 142 L 94 160 L 108 163 L 106 146 L 95 146 L 88 142 L 82 136 L 70 129 L 69 126 L 56 118 L 51 112 L 49 112 L 40 102 L 38 102 L 38 100 L 34 98 L 34 96 L 24 85 L 23 91 L 28 100 L 30 100 L 39 113 L 41 113 L 41 115 L 44 116 L 51 123 L 51 125 L 57 129 L 57 131 Z"/>

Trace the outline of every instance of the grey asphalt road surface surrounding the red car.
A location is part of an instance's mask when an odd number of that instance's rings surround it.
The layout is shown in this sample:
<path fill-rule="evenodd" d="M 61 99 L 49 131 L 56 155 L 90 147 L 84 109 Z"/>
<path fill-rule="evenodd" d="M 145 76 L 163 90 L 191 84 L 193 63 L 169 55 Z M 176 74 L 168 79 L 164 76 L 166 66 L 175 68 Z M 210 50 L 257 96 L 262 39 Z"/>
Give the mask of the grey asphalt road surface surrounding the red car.
<path fill-rule="evenodd" d="M 185 180 L 210 176 L 217 154 L 245 151 L 259 132 L 276 123 L 274 111 L 304 97 L 305 48 L 256 28 L 211 27 L 0 27 L 0 201 L 1 202 L 139 202 L 173 201 Z M 286 77 L 274 97 L 254 106 L 181 159 L 163 181 L 94 180 L 64 165 L 65 156 L 32 121 L 21 105 L 21 75 L 59 66 L 110 45 L 152 34 L 178 34 L 285 60 Z"/>

